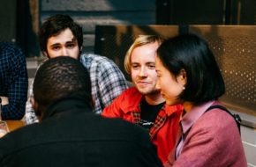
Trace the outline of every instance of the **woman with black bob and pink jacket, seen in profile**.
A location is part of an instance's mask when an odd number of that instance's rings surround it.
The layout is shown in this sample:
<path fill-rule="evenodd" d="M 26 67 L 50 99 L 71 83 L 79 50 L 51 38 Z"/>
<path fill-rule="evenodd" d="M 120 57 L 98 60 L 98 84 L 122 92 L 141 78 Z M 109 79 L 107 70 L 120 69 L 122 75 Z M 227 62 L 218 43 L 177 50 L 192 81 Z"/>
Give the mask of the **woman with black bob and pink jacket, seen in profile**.
<path fill-rule="evenodd" d="M 176 147 L 165 166 L 247 166 L 236 121 L 215 107 L 222 105 L 218 98 L 225 85 L 207 42 L 193 34 L 165 40 L 155 69 L 167 105 L 184 106 Z"/>

